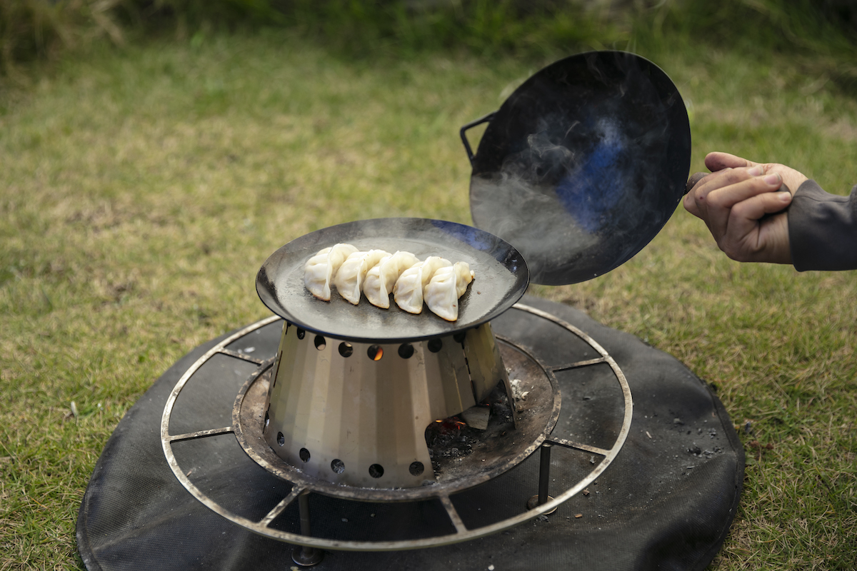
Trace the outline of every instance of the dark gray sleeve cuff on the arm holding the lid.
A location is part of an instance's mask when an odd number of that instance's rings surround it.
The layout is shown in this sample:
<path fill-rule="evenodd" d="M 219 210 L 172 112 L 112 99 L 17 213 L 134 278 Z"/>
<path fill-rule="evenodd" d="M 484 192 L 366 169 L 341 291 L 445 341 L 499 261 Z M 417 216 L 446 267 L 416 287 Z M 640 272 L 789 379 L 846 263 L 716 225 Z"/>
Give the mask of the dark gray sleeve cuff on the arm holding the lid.
<path fill-rule="evenodd" d="M 857 270 L 857 186 L 838 196 L 801 184 L 788 207 L 788 243 L 797 271 Z"/>

